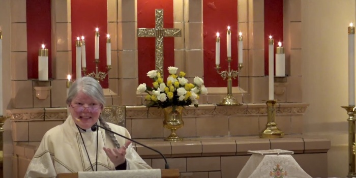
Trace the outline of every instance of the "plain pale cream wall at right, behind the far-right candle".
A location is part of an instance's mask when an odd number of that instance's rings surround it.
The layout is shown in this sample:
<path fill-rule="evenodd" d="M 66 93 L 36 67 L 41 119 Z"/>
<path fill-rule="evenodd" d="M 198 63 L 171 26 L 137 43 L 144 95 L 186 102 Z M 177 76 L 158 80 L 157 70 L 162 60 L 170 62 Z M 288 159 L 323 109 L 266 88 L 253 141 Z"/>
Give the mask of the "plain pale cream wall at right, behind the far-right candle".
<path fill-rule="evenodd" d="M 345 177 L 348 105 L 347 26 L 355 22 L 354 0 L 303 0 L 303 102 L 309 103 L 304 133 L 329 138 L 328 175 Z M 337 166 L 335 166 L 337 165 Z"/>

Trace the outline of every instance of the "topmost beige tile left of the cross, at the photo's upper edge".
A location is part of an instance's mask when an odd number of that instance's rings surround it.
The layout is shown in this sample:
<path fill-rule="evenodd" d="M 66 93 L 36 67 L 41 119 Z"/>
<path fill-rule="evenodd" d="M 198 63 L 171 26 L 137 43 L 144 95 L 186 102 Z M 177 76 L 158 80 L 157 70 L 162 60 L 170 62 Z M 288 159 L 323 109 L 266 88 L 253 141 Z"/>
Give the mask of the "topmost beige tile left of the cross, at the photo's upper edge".
<path fill-rule="evenodd" d="M 137 1 L 122 0 L 117 4 L 119 22 L 137 22 Z M 136 29 L 135 29 L 136 31 Z"/>

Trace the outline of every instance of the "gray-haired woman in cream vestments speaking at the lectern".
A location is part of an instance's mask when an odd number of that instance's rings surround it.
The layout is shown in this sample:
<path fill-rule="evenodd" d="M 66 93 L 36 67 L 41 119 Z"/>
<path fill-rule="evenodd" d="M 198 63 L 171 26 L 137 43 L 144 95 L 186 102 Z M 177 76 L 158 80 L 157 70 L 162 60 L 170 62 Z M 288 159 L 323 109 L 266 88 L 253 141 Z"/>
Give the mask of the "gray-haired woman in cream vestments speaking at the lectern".
<path fill-rule="evenodd" d="M 100 125 L 130 137 L 121 126 L 106 123 L 100 116 L 105 104 L 103 89 L 91 77 L 76 80 L 69 89 L 67 120 L 43 136 L 25 177 L 55 177 L 58 173 L 149 169 L 130 141 L 105 131 Z M 96 128 L 96 127 L 93 127 Z M 126 141 L 126 142 L 125 142 Z"/>

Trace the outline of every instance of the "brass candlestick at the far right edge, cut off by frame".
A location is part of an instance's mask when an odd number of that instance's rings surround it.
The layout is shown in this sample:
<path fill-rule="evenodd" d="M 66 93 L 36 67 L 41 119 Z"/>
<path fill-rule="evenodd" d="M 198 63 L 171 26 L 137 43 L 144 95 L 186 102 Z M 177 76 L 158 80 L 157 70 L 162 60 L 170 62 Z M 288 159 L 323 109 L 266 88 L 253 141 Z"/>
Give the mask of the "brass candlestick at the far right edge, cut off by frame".
<path fill-rule="evenodd" d="M 356 143 L 355 143 L 355 106 L 341 106 L 348 114 L 348 174 L 347 177 L 356 177 Z"/>

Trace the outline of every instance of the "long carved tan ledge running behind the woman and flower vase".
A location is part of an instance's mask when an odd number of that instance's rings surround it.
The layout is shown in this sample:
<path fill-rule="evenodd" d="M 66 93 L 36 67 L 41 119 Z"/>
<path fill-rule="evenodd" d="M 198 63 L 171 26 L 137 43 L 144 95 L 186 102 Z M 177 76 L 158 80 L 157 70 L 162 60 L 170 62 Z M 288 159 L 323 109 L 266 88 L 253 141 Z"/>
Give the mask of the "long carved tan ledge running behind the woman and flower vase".
<path fill-rule="evenodd" d="M 304 114 L 309 104 L 307 103 L 277 103 L 276 114 L 295 115 Z M 115 107 L 115 106 L 108 106 Z M 116 106 L 117 107 L 117 106 Z M 13 108 L 7 113 L 13 121 L 55 121 L 66 120 L 67 108 Z M 239 115 L 266 115 L 267 107 L 264 103 L 244 103 L 240 106 L 219 106 L 216 104 L 200 104 L 199 107 L 186 106 L 183 110 L 184 117 L 206 116 L 239 116 Z M 157 118 L 163 117 L 162 109 L 141 106 L 126 106 L 126 118 Z"/>

